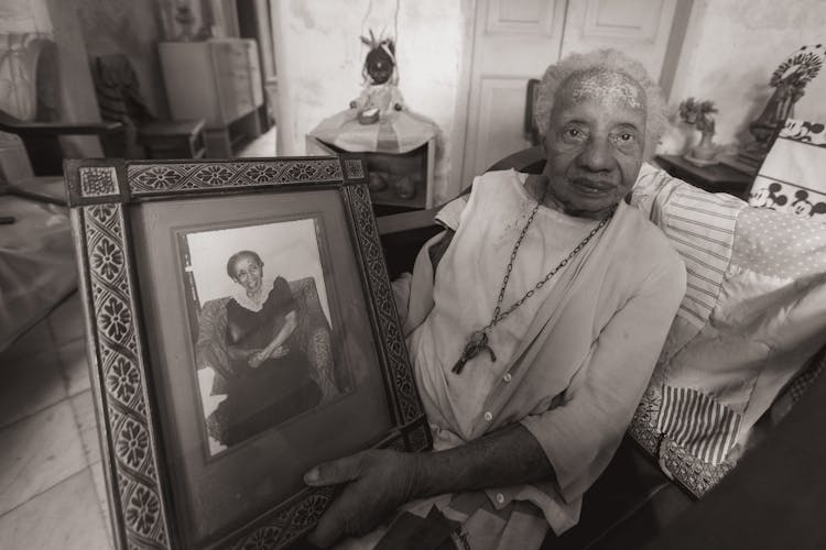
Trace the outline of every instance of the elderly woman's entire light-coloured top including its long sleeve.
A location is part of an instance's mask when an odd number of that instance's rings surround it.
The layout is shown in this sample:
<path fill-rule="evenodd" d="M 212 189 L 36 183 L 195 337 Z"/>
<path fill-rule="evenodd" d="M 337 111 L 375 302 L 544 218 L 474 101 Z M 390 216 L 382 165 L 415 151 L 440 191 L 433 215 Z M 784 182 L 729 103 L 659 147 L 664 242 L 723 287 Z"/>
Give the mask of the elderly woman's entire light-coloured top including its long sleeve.
<path fill-rule="evenodd" d="M 443 210 L 439 219 L 456 234 L 435 283 L 428 245 L 420 253 L 401 309 L 435 448 L 521 422 L 545 451 L 556 483 L 486 493 L 499 510 L 514 501 L 533 503 L 561 534 L 578 521 L 582 495 L 610 461 L 640 402 L 685 292 L 685 268 L 666 238 L 620 204 L 542 292 L 490 332 L 497 361 L 482 352 L 453 373 L 468 336 L 490 321 L 513 244 L 535 205 L 524 182 L 513 170 L 488 173 L 476 178 L 466 205 L 457 199 Z M 540 208 L 517 254 L 503 309 L 595 223 Z"/>

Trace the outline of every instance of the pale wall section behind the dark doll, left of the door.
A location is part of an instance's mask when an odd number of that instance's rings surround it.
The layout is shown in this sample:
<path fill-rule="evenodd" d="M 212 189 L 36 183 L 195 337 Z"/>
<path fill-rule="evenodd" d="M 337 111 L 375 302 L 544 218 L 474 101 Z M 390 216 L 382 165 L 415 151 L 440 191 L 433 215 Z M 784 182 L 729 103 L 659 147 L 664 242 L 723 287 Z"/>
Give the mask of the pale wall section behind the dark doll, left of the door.
<path fill-rule="evenodd" d="M 459 86 L 467 15 L 461 0 L 280 0 L 273 2 L 279 67 L 278 154 L 303 155 L 304 136 L 323 119 L 345 110 L 361 90 L 372 29 L 393 36 L 400 89 L 414 112 L 442 130 L 436 160 L 436 202 L 450 170 L 450 136 Z M 395 16 L 399 7 L 398 19 Z"/>

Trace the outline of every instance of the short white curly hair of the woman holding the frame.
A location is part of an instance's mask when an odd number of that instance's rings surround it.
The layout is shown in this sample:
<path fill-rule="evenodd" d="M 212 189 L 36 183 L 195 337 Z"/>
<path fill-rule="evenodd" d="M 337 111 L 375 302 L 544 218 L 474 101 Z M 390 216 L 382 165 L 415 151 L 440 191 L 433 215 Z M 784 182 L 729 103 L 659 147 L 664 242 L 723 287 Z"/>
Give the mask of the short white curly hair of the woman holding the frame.
<path fill-rule="evenodd" d="M 650 158 L 669 125 L 669 112 L 660 86 L 651 79 L 645 67 L 619 50 L 606 48 L 587 54 L 570 54 L 545 70 L 536 92 L 533 120 L 542 138 L 551 123 L 551 111 L 556 92 L 575 75 L 606 70 L 619 73 L 635 81 L 645 95 L 645 146 L 643 156 Z"/>

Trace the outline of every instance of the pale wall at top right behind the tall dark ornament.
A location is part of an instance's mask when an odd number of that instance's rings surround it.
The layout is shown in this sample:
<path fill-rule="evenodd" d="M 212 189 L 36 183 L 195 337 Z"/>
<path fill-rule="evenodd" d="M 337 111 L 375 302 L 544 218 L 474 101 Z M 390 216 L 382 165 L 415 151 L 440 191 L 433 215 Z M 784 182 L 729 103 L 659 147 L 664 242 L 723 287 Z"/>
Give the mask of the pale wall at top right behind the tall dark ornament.
<path fill-rule="evenodd" d="M 749 123 L 773 88 L 774 69 L 803 45 L 826 42 L 824 0 L 695 0 L 669 101 L 689 96 L 715 101 L 715 141 L 749 141 Z M 795 117 L 826 121 L 826 69 L 806 88 Z M 697 133 L 672 132 L 663 150 L 682 152 Z M 688 143 L 692 144 L 692 143 Z"/>

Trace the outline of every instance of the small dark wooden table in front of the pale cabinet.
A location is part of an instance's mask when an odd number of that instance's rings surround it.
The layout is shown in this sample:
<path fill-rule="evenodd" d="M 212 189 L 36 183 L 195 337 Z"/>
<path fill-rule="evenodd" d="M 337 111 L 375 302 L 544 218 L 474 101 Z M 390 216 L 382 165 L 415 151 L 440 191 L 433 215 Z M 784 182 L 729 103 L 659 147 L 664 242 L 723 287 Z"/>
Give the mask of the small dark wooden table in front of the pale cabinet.
<path fill-rule="evenodd" d="M 204 120 L 149 122 L 140 127 L 148 158 L 200 158 L 206 152 Z"/>

